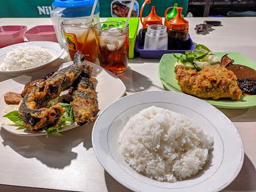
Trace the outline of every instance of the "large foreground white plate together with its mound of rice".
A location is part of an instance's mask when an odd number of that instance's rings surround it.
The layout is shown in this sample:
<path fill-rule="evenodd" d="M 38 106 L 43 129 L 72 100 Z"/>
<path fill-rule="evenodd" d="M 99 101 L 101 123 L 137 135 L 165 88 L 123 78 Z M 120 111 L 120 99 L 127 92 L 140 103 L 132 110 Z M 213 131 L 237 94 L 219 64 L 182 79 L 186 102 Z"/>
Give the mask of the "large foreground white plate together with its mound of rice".
<path fill-rule="evenodd" d="M 93 149 L 133 191 L 221 191 L 243 165 L 233 123 L 201 99 L 169 91 L 123 97 L 95 121 Z"/>

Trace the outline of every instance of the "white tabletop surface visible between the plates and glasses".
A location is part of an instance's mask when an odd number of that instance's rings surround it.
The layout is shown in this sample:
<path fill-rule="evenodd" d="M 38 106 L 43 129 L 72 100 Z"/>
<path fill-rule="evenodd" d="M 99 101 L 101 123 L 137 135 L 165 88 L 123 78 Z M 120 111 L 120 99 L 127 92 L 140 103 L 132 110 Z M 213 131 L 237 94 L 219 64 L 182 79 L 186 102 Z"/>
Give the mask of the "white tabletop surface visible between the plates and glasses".
<path fill-rule="evenodd" d="M 188 18 L 194 42 L 212 51 L 237 51 L 256 61 L 256 17 L 207 18 L 222 27 L 197 35 L 196 24 L 206 18 Z M 51 24 L 48 18 L 1 18 L 0 25 Z M 53 63 L 69 61 L 67 53 Z M 163 90 L 157 74 L 159 59 L 129 60 L 129 69 L 119 77 L 127 95 Z M 43 76 L 46 71 L 29 74 Z M 11 78 L 0 75 L 0 81 Z M 256 191 L 256 109 L 221 109 L 237 127 L 245 148 L 245 161 L 237 179 L 223 191 Z M 55 190 L 53 190 L 55 189 Z M 91 145 L 91 128 L 73 129 L 64 137 L 17 137 L 0 131 L 0 191 L 130 191 L 101 167 Z"/>

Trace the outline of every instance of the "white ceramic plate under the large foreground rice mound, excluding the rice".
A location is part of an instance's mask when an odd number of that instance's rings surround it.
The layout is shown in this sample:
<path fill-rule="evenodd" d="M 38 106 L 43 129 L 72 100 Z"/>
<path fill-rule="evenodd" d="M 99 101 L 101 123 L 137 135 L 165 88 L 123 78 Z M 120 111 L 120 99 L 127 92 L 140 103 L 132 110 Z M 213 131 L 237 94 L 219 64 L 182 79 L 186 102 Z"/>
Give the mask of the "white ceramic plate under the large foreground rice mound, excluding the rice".
<path fill-rule="evenodd" d="M 130 117 L 152 105 L 191 117 L 213 136 L 212 157 L 195 177 L 176 183 L 155 181 L 140 175 L 123 160 L 117 142 L 120 131 Z M 237 177 L 244 157 L 241 137 L 221 111 L 196 97 L 169 91 L 135 93 L 107 107 L 94 124 L 92 143 L 105 170 L 133 191 L 220 191 Z"/>

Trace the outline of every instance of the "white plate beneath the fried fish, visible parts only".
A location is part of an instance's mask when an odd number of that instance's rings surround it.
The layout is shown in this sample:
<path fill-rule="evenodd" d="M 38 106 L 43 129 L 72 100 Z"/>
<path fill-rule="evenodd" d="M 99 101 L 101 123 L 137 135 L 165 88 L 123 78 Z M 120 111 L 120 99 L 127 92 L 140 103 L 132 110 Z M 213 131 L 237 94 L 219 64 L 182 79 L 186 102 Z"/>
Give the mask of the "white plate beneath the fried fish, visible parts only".
<path fill-rule="evenodd" d="M 85 61 L 87 64 L 89 64 L 91 67 L 93 67 L 93 73 L 92 76 L 96 78 L 97 85 L 96 85 L 96 91 L 97 91 L 97 97 L 99 101 L 99 113 L 105 109 L 108 105 L 119 99 L 123 96 L 125 93 L 125 85 L 123 82 L 115 75 L 110 73 L 109 71 L 106 71 L 99 65 L 95 65 L 93 63 L 90 63 L 89 61 Z M 67 67 L 71 65 L 73 62 L 63 63 L 60 66 L 61 68 Z M 3 81 L 0 83 L 0 121 L 4 122 L 6 121 L 6 118 L 3 117 L 5 113 L 3 113 L 3 110 L 7 108 L 8 105 L 5 104 L 5 101 L 3 100 L 3 95 L 7 91 L 13 91 L 16 93 L 21 93 L 21 91 L 24 88 L 24 84 L 30 81 L 30 77 L 26 75 L 22 75 L 19 77 L 15 77 L 13 79 L 9 79 L 7 81 Z M 11 126 L 11 125 L 2 125 L 3 129 L 6 129 L 10 133 L 13 133 L 15 135 L 21 135 L 21 136 L 38 136 L 38 135 L 45 135 L 45 132 L 42 133 L 32 133 L 30 131 L 27 131 L 27 129 L 17 129 L 18 127 Z M 65 129 L 61 129 L 62 131 L 67 131 L 69 129 L 73 129 L 75 125 L 71 125 L 69 127 L 66 127 Z"/>

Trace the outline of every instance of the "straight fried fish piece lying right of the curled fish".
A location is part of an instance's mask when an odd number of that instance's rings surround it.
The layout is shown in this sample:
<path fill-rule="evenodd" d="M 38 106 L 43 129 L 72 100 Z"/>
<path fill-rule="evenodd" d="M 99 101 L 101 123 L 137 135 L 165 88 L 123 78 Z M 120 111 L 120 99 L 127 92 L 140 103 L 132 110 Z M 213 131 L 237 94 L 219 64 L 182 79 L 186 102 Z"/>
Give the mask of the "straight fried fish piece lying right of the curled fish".
<path fill-rule="evenodd" d="M 75 122 L 79 125 L 95 121 L 99 111 L 97 93 L 94 89 L 94 79 L 90 77 L 89 71 L 91 70 L 87 68 L 87 73 L 79 79 L 72 94 L 73 114 Z"/>

